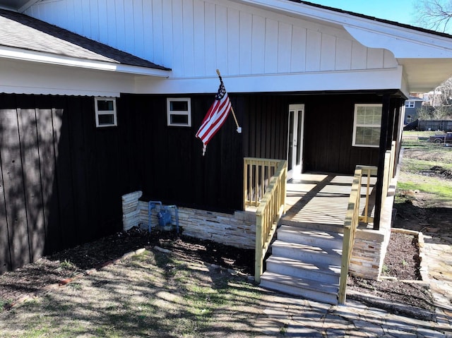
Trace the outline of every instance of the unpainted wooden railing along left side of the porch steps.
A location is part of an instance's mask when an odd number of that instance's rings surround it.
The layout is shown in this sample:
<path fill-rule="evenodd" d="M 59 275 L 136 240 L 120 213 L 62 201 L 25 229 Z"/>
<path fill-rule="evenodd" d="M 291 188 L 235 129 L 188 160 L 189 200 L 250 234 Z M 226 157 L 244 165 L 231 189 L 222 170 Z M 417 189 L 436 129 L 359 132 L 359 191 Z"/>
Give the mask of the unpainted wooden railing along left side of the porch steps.
<path fill-rule="evenodd" d="M 263 258 L 284 214 L 287 161 L 279 159 L 244 159 L 244 206 L 256 210 L 256 282 L 261 282 Z"/>

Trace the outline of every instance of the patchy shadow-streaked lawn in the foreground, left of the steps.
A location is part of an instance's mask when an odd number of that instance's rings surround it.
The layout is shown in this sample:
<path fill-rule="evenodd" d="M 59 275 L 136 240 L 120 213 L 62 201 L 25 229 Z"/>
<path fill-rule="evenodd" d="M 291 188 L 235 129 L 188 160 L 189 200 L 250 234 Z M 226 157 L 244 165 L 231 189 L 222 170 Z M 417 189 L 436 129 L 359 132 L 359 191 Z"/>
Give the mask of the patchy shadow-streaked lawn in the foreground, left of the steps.
<path fill-rule="evenodd" d="M 1 313 L 0 335 L 253 337 L 261 297 L 220 267 L 145 251 Z"/>

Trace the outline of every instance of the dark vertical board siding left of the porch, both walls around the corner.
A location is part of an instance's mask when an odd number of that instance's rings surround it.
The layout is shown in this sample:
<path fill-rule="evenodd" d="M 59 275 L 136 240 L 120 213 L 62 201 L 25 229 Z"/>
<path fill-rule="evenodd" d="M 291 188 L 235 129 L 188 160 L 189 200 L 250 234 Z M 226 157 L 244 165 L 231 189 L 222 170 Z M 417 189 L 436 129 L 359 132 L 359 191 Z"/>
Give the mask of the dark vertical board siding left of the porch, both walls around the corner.
<path fill-rule="evenodd" d="M 166 98 L 123 95 L 118 126 L 95 128 L 93 97 L 0 95 L 0 271 L 121 230 L 121 195 L 131 191 L 205 210 L 242 207 L 234 120 L 203 157 L 195 134 L 213 95 L 191 97 L 191 128 L 167 126 Z"/>

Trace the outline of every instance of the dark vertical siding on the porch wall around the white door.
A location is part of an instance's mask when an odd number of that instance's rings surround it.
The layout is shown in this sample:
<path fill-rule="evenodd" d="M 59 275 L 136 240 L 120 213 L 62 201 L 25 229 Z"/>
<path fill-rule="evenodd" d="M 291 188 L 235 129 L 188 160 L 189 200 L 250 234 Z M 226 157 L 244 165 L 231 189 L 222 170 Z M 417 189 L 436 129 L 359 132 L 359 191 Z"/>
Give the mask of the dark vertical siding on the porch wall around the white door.
<path fill-rule="evenodd" d="M 352 146 L 353 119 L 355 104 L 381 99 L 380 93 L 365 92 L 244 95 L 244 156 L 286 159 L 289 105 L 304 104 L 303 171 L 352 174 L 357 164 L 377 165 L 378 147 Z M 391 109 L 398 104 L 391 100 Z"/>

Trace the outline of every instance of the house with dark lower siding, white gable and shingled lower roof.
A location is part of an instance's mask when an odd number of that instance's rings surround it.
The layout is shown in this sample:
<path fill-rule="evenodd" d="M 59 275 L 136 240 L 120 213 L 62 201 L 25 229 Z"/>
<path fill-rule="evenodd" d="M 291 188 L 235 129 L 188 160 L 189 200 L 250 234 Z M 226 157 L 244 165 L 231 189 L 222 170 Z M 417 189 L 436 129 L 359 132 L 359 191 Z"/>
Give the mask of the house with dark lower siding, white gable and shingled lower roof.
<path fill-rule="evenodd" d="M 132 191 L 233 215 L 244 157 L 380 168 L 409 92 L 452 73 L 448 35 L 305 2 L 0 4 L 0 270 L 122 229 Z M 217 68 L 243 133 L 203 157 Z"/>

